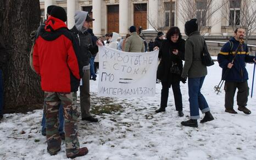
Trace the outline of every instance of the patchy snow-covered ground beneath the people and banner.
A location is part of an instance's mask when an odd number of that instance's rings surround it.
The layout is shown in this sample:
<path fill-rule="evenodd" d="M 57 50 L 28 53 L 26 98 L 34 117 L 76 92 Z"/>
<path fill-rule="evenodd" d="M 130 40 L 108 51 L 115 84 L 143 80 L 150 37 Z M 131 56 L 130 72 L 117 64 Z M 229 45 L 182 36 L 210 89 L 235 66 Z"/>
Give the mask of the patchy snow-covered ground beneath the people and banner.
<path fill-rule="evenodd" d="M 253 64 L 247 64 L 247 69 L 251 88 Z M 121 99 L 97 97 L 98 82 L 90 81 L 92 109 L 98 113 L 99 122 L 79 118 L 80 145 L 87 146 L 89 153 L 76 159 L 256 159 L 256 88 L 254 97 L 248 100 L 251 115 L 240 111 L 237 115 L 227 114 L 224 91 L 216 95 L 213 90 L 220 73 L 218 64 L 208 68 L 202 93 L 215 120 L 199 123 L 198 128 L 180 125 L 190 115 L 187 84 L 181 84 L 185 116 L 178 117 L 171 90 L 166 112 L 155 114 L 160 84 L 155 97 Z M 103 106 L 105 111 L 101 110 Z M 101 114 L 108 108 L 115 111 Z M 0 122 L 0 159 L 66 159 L 64 144 L 58 155 L 47 153 L 41 117 L 42 110 L 4 115 Z"/>

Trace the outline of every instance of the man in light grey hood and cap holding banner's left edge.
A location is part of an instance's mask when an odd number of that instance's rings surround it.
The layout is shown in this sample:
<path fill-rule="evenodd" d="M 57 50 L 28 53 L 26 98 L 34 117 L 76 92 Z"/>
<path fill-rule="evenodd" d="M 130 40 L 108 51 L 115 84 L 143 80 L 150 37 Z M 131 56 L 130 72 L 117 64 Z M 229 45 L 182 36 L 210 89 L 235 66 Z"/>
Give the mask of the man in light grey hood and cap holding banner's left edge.
<path fill-rule="evenodd" d="M 75 12 L 75 26 L 70 31 L 75 35 L 77 44 L 81 51 L 82 71 L 84 76 L 82 77 L 82 85 L 80 86 L 80 107 L 82 121 L 98 122 L 96 117 L 90 114 L 91 100 L 90 100 L 90 58 L 91 52 L 98 52 L 98 46 L 92 45 L 92 35 L 87 32 L 90 28 L 90 22 L 94 21 L 87 11 Z"/>

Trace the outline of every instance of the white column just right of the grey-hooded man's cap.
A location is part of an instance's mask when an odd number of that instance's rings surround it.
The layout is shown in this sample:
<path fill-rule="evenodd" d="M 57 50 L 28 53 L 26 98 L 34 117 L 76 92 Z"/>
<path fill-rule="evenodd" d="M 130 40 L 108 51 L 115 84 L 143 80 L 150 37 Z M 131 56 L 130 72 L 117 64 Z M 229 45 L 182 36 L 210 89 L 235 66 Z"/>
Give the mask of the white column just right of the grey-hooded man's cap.
<path fill-rule="evenodd" d="M 92 1 L 92 16 L 94 21 L 93 24 L 93 33 L 97 37 L 101 37 L 101 0 Z"/>

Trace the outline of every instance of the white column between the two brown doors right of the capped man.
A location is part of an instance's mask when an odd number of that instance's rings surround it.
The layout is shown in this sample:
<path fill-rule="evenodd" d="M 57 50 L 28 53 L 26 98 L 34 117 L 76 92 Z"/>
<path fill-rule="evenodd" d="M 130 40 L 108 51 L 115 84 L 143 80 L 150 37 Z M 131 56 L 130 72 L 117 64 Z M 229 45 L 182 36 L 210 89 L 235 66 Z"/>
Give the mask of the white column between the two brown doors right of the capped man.
<path fill-rule="evenodd" d="M 128 33 L 128 1 L 119 0 L 119 35 L 125 36 Z"/>

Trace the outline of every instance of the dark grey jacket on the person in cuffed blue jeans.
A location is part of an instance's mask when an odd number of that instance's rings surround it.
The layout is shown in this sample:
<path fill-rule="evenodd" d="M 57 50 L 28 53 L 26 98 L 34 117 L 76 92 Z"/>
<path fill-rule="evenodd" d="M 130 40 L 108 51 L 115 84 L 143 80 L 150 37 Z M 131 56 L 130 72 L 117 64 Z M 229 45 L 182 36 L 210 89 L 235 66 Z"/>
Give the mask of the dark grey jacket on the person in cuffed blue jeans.
<path fill-rule="evenodd" d="M 198 31 L 188 35 L 185 43 L 185 64 L 182 78 L 201 78 L 207 75 L 207 67 L 203 65 L 201 54 L 203 52 L 204 38 Z"/>

